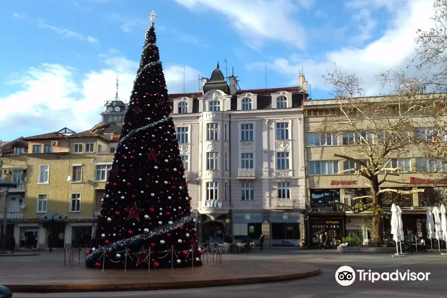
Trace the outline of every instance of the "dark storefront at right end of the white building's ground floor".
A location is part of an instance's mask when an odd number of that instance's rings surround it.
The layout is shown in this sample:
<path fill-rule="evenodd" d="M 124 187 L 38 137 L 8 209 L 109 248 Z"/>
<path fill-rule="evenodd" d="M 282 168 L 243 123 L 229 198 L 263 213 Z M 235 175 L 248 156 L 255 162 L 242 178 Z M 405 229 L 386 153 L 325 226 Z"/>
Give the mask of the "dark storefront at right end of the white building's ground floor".
<path fill-rule="evenodd" d="M 300 213 L 271 212 L 269 220 L 272 246 L 299 246 L 301 243 L 299 231 Z"/>

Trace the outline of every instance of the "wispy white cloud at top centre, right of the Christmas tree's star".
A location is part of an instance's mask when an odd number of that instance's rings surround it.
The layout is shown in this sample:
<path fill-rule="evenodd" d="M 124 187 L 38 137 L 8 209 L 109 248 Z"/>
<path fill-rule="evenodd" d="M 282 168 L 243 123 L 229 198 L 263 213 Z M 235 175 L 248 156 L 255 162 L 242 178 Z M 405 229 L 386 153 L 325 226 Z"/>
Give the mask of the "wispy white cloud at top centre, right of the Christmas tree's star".
<path fill-rule="evenodd" d="M 277 40 L 304 48 L 305 31 L 293 17 L 303 8 L 303 0 L 175 0 L 194 11 L 215 10 L 230 19 L 237 34 L 251 47 L 264 40 Z"/>

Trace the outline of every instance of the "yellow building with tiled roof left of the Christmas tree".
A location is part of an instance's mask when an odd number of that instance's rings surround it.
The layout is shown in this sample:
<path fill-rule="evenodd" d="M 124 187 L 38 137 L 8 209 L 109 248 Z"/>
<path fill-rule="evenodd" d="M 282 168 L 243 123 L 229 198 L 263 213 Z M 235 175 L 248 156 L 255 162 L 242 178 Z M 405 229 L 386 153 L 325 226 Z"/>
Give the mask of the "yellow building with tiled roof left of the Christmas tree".
<path fill-rule="evenodd" d="M 26 169 L 24 197 L 18 210 L 8 209 L 6 213 L 17 247 L 86 244 L 105 193 L 116 146 L 113 133 L 74 133 L 64 128 L 23 141 L 27 148 L 21 154 L 2 158 L 2 169 Z M 6 198 L 9 202 L 12 194 Z M 19 215 L 12 216 L 16 212 Z"/>

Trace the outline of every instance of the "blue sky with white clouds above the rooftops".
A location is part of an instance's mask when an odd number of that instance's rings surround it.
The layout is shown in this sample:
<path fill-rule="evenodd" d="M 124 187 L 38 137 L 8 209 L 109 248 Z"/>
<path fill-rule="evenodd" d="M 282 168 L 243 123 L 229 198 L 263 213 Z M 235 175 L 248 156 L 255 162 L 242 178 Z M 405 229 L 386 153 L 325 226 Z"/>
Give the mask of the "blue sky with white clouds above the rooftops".
<path fill-rule="evenodd" d="M 329 98 L 336 63 L 378 94 L 376 75 L 404 69 L 433 24 L 433 0 L 0 1 L 0 140 L 90 129 L 117 73 L 128 100 L 152 10 L 169 93 L 227 60 L 241 89 L 296 86 L 303 70 L 312 99 Z"/>

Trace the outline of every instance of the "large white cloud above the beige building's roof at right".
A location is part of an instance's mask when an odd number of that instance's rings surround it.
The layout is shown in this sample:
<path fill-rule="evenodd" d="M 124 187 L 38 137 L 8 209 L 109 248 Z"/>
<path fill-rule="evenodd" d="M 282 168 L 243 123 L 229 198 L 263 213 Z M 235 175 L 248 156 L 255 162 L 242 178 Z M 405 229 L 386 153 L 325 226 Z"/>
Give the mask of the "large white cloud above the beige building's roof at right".
<path fill-rule="evenodd" d="M 433 0 L 412 0 L 406 4 L 401 0 L 353 2 L 356 2 L 356 7 L 359 9 L 365 9 L 365 5 L 370 5 L 374 9 L 384 7 L 389 10 L 392 20 L 380 38 L 364 47 L 344 47 L 328 52 L 321 59 L 303 59 L 298 56 L 289 59 L 278 58 L 270 63 L 269 67 L 289 76 L 293 84 L 298 83 L 298 72 L 304 67 L 304 74 L 312 89 L 328 89 L 330 86 L 324 84 L 321 75 L 333 71 L 335 62 L 341 71 L 355 73 L 361 77 L 364 87 L 370 94 L 377 94 L 380 90 L 376 74 L 381 70 L 405 68 L 409 64 L 409 59 L 414 57 L 416 30 L 429 29 L 432 26 L 430 17 L 433 15 Z"/>

